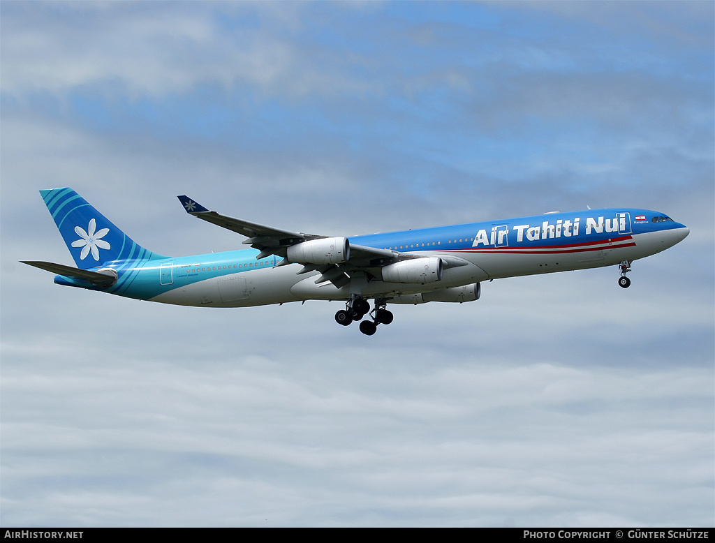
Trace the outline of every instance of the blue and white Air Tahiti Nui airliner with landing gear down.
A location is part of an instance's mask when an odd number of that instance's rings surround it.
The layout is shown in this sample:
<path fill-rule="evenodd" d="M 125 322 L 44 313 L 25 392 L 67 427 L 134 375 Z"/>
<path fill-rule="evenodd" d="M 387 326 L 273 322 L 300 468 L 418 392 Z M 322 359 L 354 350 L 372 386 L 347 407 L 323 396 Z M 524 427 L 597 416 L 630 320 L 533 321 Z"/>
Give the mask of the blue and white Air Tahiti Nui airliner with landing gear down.
<path fill-rule="evenodd" d="M 303 234 L 234 219 L 178 196 L 189 215 L 247 239 L 251 248 L 164 256 L 135 243 L 77 192 L 40 191 L 77 266 L 22 261 L 68 287 L 197 307 L 338 300 L 344 326 L 371 336 L 393 322 L 388 304 L 478 300 L 493 279 L 631 263 L 685 239 L 659 211 L 613 208 L 438 226 L 366 236 Z M 370 301 L 372 300 L 372 308 Z M 365 316 L 368 316 L 365 318 Z"/>

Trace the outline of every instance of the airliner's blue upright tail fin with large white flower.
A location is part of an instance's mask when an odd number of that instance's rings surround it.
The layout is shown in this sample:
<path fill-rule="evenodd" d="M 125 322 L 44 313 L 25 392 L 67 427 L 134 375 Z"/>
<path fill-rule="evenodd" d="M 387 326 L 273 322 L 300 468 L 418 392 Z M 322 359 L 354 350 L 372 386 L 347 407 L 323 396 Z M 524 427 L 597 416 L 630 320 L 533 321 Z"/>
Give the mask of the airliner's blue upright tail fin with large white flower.
<path fill-rule="evenodd" d="M 94 268 L 113 260 L 166 258 L 134 243 L 72 189 L 50 189 L 40 194 L 78 268 Z"/>

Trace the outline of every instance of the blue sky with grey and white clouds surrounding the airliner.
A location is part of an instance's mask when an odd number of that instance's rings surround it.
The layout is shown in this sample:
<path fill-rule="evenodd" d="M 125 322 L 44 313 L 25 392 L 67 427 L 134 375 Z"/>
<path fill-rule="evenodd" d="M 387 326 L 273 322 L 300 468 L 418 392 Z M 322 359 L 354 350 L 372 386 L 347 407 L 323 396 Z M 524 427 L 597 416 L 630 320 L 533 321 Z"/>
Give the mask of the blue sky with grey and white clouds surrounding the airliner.
<path fill-rule="evenodd" d="M 713 526 L 714 4 L 0 4 L 3 526 Z M 633 206 L 633 264 L 395 306 L 60 287 L 38 194 L 352 235 Z"/>

